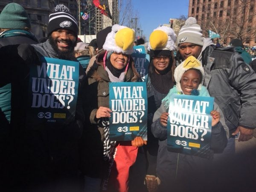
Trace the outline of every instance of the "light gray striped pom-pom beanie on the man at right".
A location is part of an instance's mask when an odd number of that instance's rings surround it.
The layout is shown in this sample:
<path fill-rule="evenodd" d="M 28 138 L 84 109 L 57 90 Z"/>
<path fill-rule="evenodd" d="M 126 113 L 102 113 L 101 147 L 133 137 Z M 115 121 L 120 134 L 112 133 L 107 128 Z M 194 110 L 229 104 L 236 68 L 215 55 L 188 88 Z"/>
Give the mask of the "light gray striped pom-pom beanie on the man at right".
<path fill-rule="evenodd" d="M 196 24 L 195 17 L 189 17 L 186 20 L 185 25 L 181 27 L 177 38 L 177 44 L 179 46 L 179 44 L 182 43 L 191 43 L 203 47 L 204 39 L 202 29 Z"/>

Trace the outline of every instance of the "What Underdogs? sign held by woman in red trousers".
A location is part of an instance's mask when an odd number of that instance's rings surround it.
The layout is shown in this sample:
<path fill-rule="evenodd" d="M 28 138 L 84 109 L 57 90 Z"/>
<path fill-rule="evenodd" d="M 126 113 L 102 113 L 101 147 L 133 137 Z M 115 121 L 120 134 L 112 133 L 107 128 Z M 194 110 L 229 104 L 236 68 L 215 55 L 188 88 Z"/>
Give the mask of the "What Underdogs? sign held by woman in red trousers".
<path fill-rule="evenodd" d="M 109 138 L 131 141 L 140 136 L 147 140 L 147 90 L 145 82 L 109 83 Z"/>

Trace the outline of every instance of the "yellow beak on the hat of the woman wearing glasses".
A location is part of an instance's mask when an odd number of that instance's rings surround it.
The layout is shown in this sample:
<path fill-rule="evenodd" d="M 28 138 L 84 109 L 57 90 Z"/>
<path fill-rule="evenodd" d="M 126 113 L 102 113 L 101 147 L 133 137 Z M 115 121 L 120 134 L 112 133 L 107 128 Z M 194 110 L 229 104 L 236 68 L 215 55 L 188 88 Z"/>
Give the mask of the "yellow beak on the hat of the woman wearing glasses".
<path fill-rule="evenodd" d="M 168 36 L 166 32 L 161 30 L 155 30 L 151 33 L 149 37 L 150 46 L 153 50 L 156 50 L 160 47 L 165 47 L 168 41 Z"/>

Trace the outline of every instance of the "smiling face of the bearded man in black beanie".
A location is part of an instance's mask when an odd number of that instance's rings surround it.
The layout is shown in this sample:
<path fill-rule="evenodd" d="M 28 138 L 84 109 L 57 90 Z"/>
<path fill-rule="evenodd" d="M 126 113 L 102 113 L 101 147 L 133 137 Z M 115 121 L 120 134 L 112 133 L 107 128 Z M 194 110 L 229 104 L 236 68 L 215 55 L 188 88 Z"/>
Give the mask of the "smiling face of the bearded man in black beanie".
<path fill-rule="evenodd" d="M 52 32 L 51 38 L 60 51 L 69 51 L 76 46 L 76 35 L 70 30 L 57 29 Z"/>

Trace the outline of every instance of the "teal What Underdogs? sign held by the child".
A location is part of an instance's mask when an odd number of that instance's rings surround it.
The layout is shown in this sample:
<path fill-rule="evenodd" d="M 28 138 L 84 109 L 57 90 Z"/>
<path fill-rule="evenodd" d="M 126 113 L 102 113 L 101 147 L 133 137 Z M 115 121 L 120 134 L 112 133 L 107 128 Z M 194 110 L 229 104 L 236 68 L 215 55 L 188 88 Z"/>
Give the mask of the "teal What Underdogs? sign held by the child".
<path fill-rule="evenodd" d="M 213 97 L 172 96 L 167 124 L 168 151 L 209 157 Z"/>

